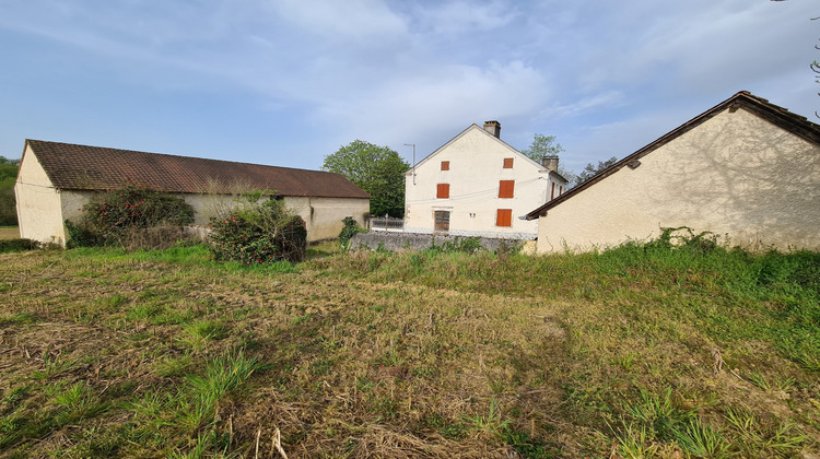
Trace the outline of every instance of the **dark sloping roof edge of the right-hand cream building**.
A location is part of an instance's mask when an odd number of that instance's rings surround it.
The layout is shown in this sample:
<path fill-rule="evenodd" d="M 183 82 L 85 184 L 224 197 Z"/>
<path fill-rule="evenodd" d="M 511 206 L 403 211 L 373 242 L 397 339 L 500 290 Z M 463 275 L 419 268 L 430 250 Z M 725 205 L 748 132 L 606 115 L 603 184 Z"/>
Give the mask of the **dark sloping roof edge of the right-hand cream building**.
<path fill-rule="evenodd" d="M 792 111 L 788 111 L 788 109 L 786 108 L 774 105 L 765 98 L 758 97 L 748 91 L 740 91 L 737 94 L 733 95 L 731 97 L 727 98 L 726 101 L 715 105 L 708 110 L 698 115 L 696 117 L 679 126 L 677 129 L 670 132 L 667 132 L 665 136 L 660 137 L 658 140 L 649 143 L 643 149 L 632 153 L 631 155 L 624 157 L 623 160 L 599 172 L 598 174 L 596 174 L 588 180 L 584 181 L 583 184 L 578 185 L 577 187 L 571 189 L 570 191 L 561 195 L 560 197 L 547 202 L 540 208 L 528 213 L 527 220 L 535 220 L 541 215 L 544 215 L 548 210 L 554 208 L 555 205 L 561 204 L 562 202 L 569 199 L 572 199 L 572 197 L 578 195 L 585 189 L 594 186 L 595 184 L 617 173 L 623 166 L 634 164 L 633 163 L 634 161 L 637 161 L 641 157 L 646 156 L 653 151 L 671 142 L 672 140 L 694 129 L 695 127 L 715 117 L 716 115 L 723 113 L 724 110 L 729 109 L 729 111 L 734 113 L 738 108 L 743 108 L 770 121 L 771 123 L 786 131 L 794 133 L 795 136 L 798 136 L 809 142 L 820 145 L 820 126 L 809 121 L 804 116 L 793 114 Z"/>

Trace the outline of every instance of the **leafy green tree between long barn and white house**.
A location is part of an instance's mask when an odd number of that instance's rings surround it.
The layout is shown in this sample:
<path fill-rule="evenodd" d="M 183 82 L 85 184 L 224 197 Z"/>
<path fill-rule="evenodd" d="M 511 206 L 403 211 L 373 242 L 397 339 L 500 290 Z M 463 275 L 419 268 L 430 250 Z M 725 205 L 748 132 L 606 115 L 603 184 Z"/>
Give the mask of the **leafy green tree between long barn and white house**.
<path fill-rule="evenodd" d="M 410 168 L 387 146 L 354 140 L 325 156 L 323 170 L 348 177 L 372 196 L 371 214 L 405 216 L 405 173 Z"/>

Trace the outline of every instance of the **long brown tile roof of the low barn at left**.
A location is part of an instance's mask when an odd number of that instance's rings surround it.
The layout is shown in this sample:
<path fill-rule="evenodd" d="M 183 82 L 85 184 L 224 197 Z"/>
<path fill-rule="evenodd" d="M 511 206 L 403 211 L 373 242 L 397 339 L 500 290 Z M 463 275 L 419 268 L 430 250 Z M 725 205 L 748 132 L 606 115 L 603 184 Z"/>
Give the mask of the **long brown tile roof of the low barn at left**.
<path fill-rule="evenodd" d="M 149 189 L 183 193 L 224 192 L 239 185 L 291 197 L 370 198 L 344 176 L 327 172 L 42 140 L 26 144 L 51 184 L 66 190 L 112 190 L 133 180 Z"/>

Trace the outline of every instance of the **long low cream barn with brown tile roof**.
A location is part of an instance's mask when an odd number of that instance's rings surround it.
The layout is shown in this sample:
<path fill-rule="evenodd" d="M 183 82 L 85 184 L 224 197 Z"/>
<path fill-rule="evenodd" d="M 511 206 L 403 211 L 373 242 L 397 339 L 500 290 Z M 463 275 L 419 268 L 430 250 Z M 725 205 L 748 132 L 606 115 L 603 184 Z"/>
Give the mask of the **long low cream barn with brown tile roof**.
<path fill-rule="evenodd" d="M 21 237 L 65 245 L 66 220 L 128 183 L 184 198 L 198 225 L 238 191 L 274 190 L 305 221 L 308 242 L 337 237 L 345 216 L 364 224 L 370 209 L 370 195 L 339 174 L 26 140 L 14 187 Z"/>

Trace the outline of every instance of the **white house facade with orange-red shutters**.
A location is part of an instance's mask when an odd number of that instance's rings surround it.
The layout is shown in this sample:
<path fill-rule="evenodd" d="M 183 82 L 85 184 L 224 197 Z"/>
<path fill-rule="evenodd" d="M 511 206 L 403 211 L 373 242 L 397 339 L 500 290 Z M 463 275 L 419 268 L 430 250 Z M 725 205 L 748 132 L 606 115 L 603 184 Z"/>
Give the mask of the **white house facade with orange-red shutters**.
<path fill-rule="evenodd" d="M 410 169 L 405 187 L 406 232 L 532 239 L 538 223 L 524 216 L 566 180 L 472 125 Z"/>

